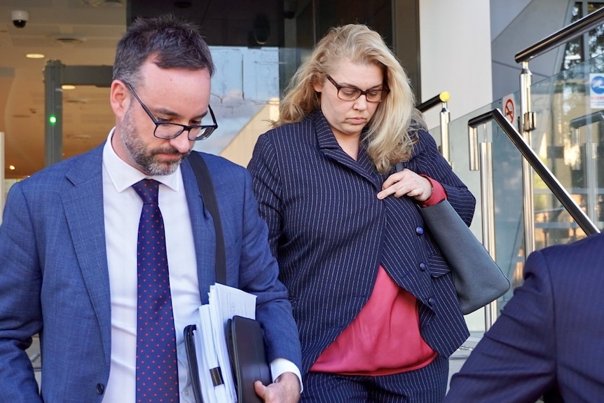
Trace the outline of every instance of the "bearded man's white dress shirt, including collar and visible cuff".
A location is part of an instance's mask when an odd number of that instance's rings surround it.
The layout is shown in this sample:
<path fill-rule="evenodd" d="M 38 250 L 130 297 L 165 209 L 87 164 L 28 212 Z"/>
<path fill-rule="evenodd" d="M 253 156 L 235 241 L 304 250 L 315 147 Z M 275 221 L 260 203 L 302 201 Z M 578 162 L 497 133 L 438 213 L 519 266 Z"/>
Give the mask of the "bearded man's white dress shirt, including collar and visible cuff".
<path fill-rule="evenodd" d="M 114 129 L 115 130 L 115 129 Z M 111 146 L 103 149 L 103 204 L 107 264 L 111 287 L 111 370 L 103 403 L 135 402 L 137 350 L 137 233 L 142 200 L 132 185 L 142 179 L 160 182 L 159 207 L 164 220 L 170 292 L 176 329 L 181 403 L 193 403 L 188 379 L 183 330 L 198 317 L 201 305 L 191 217 L 180 166 L 171 175 L 148 177 L 125 163 Z M 293 362 L 277 358 L 270 363 L 273 380 L 286 371 L 301 382 Z"/>

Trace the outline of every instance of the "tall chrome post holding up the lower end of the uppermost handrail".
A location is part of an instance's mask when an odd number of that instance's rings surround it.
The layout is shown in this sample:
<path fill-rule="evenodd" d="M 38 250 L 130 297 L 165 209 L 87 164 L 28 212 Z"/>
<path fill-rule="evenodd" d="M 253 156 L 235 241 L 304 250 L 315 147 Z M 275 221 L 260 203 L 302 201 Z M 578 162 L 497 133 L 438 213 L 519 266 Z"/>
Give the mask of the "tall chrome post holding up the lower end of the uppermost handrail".
<path fill-rule="evenodd" d="M 530 112 L 530 76 L 528 61 L 522 62 L 520 74 L 520 125 L 525 142 L 530 146 L 530 131 L 535 129 L 535 114 Z M 533 169 L 522 160 L 524 257 L 535 250 L 535 205 L 533 203 Z"/>

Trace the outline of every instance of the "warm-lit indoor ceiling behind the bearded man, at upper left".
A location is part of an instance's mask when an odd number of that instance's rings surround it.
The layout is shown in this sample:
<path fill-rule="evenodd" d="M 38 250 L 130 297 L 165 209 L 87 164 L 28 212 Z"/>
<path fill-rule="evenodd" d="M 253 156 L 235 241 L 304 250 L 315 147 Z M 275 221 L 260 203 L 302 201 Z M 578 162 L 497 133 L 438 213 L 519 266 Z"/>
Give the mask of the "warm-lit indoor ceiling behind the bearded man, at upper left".
<path fill-rule="evenodd" d="M 117 0 L 114 0 L 117 1 Z M 65 65 L 114 62 L 125 32 L 126 8 L 90 6 L 92 0 L 0 0 L 0 132 L 5 133 L 6 178 L 21 178 L 44 167 L 44 83 L 48 60 Z M 13 26 L 11 11 L 29 13 L 23 28 Z M 81 43 L 56 36 L 83 36 Z M 43 59 L 27 59 L 42 53 Z M 63 157 L 96 146 L 114 125 L 109 88 L 84 86 L 63 92 Z M 14 165 L 15 170 L 8 169 Z"/>

